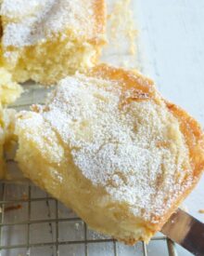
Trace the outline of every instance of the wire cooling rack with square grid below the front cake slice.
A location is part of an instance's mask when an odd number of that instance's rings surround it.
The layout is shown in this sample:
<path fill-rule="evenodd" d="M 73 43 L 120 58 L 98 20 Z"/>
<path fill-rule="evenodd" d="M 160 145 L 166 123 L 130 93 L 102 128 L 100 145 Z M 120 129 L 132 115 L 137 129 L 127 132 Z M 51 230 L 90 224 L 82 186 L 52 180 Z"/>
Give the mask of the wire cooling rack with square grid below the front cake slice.
<path fill-rule="evenodd" d="M 175 256 L 174 244 L 158 235 L 149 245 L 124 246 L 90 230 L 70 209 L 32 184 L 0 183 L 1 256 Z"/>

